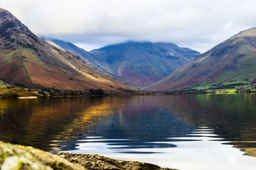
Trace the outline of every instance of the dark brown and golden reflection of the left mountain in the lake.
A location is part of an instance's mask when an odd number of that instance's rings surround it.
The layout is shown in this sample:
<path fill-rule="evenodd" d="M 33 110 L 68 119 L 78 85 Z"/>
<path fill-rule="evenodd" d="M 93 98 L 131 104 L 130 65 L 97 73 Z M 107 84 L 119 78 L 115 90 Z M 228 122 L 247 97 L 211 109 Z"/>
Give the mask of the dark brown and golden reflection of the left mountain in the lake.
<path fill-rule="evenodd" d="M 97 98 L 0 100 L 0 132 L 22 145 L 52 150 L 54 141 L 81 135 L 76 129 L 84 110 L 104 105 Z"/>

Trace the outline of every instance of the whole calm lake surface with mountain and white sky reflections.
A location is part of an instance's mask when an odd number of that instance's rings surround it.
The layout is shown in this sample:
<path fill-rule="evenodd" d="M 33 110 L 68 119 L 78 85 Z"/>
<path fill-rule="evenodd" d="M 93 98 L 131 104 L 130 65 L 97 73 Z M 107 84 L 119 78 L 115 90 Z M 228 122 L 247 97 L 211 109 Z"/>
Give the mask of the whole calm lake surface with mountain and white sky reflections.
<path fill-rule="evenodd" d="M 54 153 L 256 169 L 256 95 L 0 99 L 0 133 Z"/>

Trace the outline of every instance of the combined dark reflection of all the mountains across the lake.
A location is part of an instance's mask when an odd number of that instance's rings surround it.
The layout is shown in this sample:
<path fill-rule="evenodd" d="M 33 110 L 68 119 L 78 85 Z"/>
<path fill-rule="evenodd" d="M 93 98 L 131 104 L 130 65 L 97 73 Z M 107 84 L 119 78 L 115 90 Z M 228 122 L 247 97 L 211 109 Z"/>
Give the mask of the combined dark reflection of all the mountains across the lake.
<path fill-rule="evenodd" d="M 0 132 L 44 150 L 105 143 L 120 153 L 157 153 L 148 150 L 217 134 L 255 156 L 255 101 L 253 94 L 1 100 Z"/>

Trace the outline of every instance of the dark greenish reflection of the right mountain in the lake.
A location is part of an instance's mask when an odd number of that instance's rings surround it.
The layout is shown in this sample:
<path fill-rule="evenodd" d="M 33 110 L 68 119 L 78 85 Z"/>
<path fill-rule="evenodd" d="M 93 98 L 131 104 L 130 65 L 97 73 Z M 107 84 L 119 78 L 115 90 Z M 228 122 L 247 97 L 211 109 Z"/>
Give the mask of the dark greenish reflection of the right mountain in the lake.
<path fill-rule="evenodd" d="M 172 97 L 166 105 L 186 122 L 209 126 L 229 145 L 255 157 L 255 102 L 254 94 L 195 95 Z"/>

